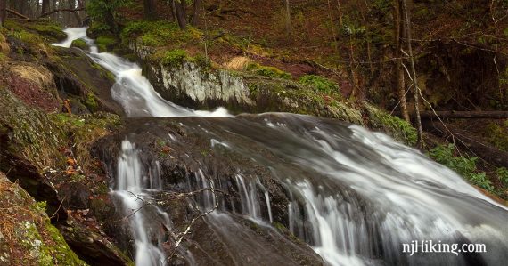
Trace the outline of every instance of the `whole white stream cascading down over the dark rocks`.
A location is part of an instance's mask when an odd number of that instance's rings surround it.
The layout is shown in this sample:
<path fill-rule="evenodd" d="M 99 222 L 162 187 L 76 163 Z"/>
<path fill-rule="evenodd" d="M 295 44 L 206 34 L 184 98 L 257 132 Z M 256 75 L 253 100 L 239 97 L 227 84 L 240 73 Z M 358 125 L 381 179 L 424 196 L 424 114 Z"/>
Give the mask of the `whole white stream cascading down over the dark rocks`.
<path fill-rule="evenodd" d="M 69 39 L 56 45 L 70 47 L 74 39 L 86 40 L 92 47 L 87 52 L 90 58 L 116 76 L 111 94 L 127 117 L 203 117 L 200 130 L 209 136 L 211 149 L 231 150 L 271 169 L 289 197 L 289 230 L 328 264 L 501 265 L 508 260 L 507 209 L 420 152 L 382 133 L 332 120 L 292 114 L 233 117 L 225 109 L 209 112 L 178 106 L 154 91 L 137 64 L 97 52 L 94 41 L 86 37 L 86 28 L 68 28 L 65 32 Z M 193 126 L 185 118 L 181 123 Z M 168 141 L 177 140 L 169 136 Z M 253 146 L 274 158 L 251 150 Z M 157 167 L 143 169 L 135 144 L 127 140 L 121 143 L 113 189 L 129 214 L 136 265 L 165 263 L 160 248 L 164 239 L 149 237 L 158 234 L 149 231 L 151 221 L 145 214 L 159 212 L 166 217 L 164 226 L 169 230 L 172 225 L 168 215 L 156 206 L 132 212 L 150 199 L 151 190 L 162 188 L 158 173 Z M 235 212 L 270 227 L 274 214 L 266 185 L 242 173 L 234 177 L 234 182 L 241 199 L 233 206 Z M 189 180 L 193 189 L 213 186 L 221 188 L 203 173 L 196 173 L 195 180 Z M 219 205 L 216 200 L 212 193 L 205 193 L 201 211 Z M 243 236 L 224 207 L 219 210 L 206 219 L 210 227 L 225 236 L 225 242 L 251 249 L 253 255 L 269 252 Z M 413 240 L 485 244 L 487 253 L 402 253 L 402 244 Z M 193 264 L 192 254 L 187 255 L 186 261 Z"/>

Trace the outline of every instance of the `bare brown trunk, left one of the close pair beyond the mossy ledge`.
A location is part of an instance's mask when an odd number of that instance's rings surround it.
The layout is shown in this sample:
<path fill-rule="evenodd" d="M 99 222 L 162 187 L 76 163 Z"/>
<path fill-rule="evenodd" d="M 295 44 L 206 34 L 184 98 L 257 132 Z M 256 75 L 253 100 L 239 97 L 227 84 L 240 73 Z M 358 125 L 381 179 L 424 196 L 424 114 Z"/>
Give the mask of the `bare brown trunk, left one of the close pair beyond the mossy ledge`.
<path fill-rule="evenodd" d="M 400 112 L 402 113 L 402 117 L 407 122 L 411 122 L 409 119 L 409 113 L 407 112 L 407 103 L 406 103 L 406 83 L 404 81 L 404 70 L 402 69 L 402 39 L 403 39 L 403 30 L 402 26 L 402 18 L 401 18 L 401 5 L 400 1 L 395 1 L 394 6 L 394 22 L 395 22 L 395 52 L 394 56 L 397 58 L 396 63 L 396 77 L 397 77 L 397 93 L 400 101 Z"/>

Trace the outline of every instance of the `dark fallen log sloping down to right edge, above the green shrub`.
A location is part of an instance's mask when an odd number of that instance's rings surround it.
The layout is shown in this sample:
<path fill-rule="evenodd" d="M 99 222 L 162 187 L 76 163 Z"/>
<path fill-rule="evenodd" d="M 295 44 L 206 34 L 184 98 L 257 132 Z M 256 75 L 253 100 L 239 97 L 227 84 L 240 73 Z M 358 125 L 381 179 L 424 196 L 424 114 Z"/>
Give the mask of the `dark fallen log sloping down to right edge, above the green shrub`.
<path fill-rule="evenodd" d="M 457 146 L 471 151 L 474 153 L 474 156 L 481 157 L 489 164 L 496 165 L 497 167 L 508 167 L 508 152 L 492 147 L 490 144 L 479 140 L 478 137 L 457 128 L 455 125 L 447 124 L 447 127 L 445 127 L 445 125 L 438 121 L 426 121 L 423 123 L 423 127 L 425 131 L 443 138 L 451 138 L 451 134 L 453 134 Z"/>

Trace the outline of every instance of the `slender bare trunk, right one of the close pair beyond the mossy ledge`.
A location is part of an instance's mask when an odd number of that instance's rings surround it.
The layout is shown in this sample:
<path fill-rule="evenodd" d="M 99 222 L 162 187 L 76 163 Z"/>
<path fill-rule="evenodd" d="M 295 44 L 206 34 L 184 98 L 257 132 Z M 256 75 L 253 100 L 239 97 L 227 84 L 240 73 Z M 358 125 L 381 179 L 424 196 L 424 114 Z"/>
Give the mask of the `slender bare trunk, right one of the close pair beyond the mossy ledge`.
<path fill-rule="evenodd" d="M 413 57 L 413 47 L 411 45 L 411 19 L 409 17 L 409 12 L 407 11 L 407 3 L 406 0 L 402 0 L 402 9 L 404 11 L 404 17 L 406 20 L 406 42 L 407 42 L 407 50 L 409 52 L 409 60 L 411 62 L 411 74 L 413 76 L 413 84 L 414 84 L 414 117 L 416 119 L 416 131 L 418 133 L 418 141 L 416 142 L 416 147 L 422 147 L 422 119 L 420 117 L 420 109 L 419 105 L 419 94 L 420 88 L 418 87 L 418 79 L 416 77 L 416 69 L 414 68 L 414 57 Z"/>

